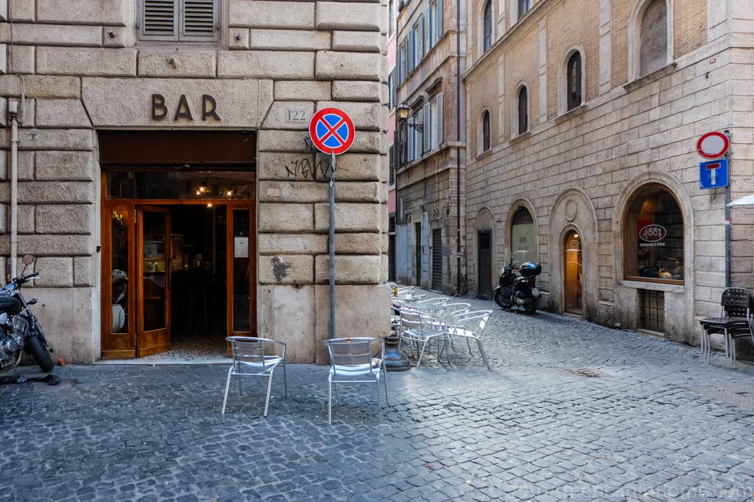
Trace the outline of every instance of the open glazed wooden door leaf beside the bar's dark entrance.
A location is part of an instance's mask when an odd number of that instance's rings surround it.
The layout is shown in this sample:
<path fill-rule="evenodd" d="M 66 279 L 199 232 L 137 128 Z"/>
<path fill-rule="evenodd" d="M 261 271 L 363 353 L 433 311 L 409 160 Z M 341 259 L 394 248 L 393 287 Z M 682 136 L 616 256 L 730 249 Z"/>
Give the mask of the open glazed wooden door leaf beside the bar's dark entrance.
<path fill-rule="evenodd" d="M 137 357 L 170 350 L 170 209 L 136 211 Z"/>

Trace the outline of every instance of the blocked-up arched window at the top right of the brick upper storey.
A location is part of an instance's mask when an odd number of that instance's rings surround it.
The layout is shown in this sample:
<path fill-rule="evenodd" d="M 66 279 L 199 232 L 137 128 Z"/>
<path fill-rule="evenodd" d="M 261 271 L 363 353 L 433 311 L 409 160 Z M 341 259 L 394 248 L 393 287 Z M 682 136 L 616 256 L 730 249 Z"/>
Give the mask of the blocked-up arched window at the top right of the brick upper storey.
<path fill-rule="evenodd" d="M 651 0 L 644 10 L 639 28 L 639 77 L 667 65 L 667 4 Z"/>

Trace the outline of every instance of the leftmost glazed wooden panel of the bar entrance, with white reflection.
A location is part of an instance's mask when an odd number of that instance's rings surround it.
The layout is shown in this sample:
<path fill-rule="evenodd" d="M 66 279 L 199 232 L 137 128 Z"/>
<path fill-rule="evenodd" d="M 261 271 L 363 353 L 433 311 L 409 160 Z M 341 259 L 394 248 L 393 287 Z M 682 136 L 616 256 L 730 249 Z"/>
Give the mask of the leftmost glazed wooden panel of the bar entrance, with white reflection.
<path fill-rule="evenodd" d="M 133 205 L 103 211 L 102 357 L 136 357 L 136 233 Z"/>

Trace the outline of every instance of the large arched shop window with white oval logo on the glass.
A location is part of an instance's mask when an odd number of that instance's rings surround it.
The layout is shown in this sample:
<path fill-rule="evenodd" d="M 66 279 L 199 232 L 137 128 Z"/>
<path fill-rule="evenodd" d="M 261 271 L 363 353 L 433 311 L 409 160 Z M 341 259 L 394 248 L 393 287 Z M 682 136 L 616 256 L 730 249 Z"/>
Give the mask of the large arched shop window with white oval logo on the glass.
<path fill-rule="evenodd" d="M 624 222 L 627 278 L 683 282 L 683 214 L 673 193 L 659 184 L 642 187 Z"/>

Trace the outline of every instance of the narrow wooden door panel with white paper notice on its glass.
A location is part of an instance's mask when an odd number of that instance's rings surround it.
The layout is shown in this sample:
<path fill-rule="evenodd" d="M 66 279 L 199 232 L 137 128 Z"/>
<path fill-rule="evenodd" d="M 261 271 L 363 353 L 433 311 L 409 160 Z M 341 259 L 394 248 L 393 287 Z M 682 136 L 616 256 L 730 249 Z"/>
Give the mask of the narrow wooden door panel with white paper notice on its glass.
<path fill-rule="evenodd" d="M 253 204 L 228 206 L 226 232 L 228 336 L 256 336 L 256 214 Z"/>

